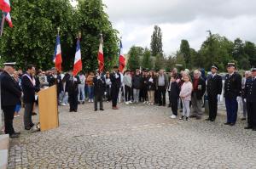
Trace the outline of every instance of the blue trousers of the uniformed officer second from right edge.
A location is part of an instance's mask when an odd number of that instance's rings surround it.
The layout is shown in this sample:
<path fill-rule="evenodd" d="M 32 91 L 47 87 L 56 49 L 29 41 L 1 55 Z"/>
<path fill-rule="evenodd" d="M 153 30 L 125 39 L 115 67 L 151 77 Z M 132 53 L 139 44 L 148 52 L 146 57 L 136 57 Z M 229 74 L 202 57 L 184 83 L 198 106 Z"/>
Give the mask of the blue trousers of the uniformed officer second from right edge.
<path fill-rule="evenodd" d="M 227 110 L 227 122 L 236 123 L 238 102 L 236 98 L 225 98 L 226 110 Z"/>

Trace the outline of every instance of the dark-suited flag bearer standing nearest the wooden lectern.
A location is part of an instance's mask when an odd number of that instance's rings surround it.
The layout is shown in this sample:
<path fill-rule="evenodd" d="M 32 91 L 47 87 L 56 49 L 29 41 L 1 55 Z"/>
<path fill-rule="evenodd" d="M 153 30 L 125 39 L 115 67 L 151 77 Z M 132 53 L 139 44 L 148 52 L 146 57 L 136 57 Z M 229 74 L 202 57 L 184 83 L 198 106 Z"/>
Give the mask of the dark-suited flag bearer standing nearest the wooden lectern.
<path fill-rule="evenodd" d="M 68 93 L 69 112 L 78 111 L 79 95 L 79 76 L 73 76 L 73 70 L 69 71 L 69 78 L 66 82 L 66 91 Z"/>

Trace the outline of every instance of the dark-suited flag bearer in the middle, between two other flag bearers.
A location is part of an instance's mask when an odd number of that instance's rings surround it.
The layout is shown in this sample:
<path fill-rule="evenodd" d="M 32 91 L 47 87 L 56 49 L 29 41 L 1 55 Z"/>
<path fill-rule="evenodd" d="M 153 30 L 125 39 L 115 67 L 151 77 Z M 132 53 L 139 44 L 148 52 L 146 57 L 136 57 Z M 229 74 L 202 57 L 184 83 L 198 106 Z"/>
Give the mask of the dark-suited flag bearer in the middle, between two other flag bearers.
<path fill-rule="evenodd" d="M 103 110 L 103 96 L 106 89 L 106 82 L 103 74 L 96 73 L 93 78 L 94 83 L 94 110 L 98 110 L 97 104 L 100 102 L 100 110 Z"/>

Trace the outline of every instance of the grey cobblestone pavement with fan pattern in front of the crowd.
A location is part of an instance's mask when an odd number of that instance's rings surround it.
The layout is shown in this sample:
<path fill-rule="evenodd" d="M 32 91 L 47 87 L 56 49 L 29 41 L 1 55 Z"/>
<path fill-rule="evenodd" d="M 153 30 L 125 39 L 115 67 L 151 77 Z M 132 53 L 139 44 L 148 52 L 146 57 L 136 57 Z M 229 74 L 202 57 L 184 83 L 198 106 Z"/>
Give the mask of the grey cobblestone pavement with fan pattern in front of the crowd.
<path fill-rule="evenodd" d="M 256 132 L 243 129 L 246 121 L 185 122 L 170 119 L 167 107 L 104 105 L 60 107 L 60 127 L 47 132 L 28 133 L 16 118 L 21 135 L 11 140 L 9 168 L 256 168 Z"/>

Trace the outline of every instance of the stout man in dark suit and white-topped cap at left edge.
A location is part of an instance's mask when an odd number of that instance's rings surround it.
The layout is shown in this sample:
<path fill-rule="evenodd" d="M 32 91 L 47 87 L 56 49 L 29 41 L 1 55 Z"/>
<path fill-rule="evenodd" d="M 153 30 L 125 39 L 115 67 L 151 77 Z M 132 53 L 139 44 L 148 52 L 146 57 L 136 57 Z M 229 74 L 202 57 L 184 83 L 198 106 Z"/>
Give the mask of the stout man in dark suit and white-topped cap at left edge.
<path fill-rule="evenodd" d="M 15 132 L 13 120 L 15 106 L 20 102 L 21 91 L 18 82 L 12 76 L 15 72 L 15 63 L 5 63 L 3 73 L 0 76 L 1 105 L 4 115 L 4 132 L 10 138 L 19 138 L 20 132 Z"/>

